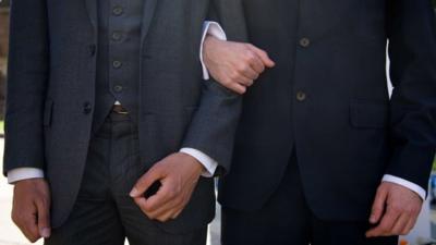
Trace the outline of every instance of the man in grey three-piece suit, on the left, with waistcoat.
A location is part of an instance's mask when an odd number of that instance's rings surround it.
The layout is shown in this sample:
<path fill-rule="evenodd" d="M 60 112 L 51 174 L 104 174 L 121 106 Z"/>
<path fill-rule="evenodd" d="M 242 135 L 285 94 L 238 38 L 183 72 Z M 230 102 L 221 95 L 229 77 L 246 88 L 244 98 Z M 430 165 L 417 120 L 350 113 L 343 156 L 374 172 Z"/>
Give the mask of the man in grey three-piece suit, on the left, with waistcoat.
<path fill-rule="evenodd" d="M 240 109 L 201 78 L 208 5 L 12 2 L 4 173 L 29 241 L 205 243 Z"/>

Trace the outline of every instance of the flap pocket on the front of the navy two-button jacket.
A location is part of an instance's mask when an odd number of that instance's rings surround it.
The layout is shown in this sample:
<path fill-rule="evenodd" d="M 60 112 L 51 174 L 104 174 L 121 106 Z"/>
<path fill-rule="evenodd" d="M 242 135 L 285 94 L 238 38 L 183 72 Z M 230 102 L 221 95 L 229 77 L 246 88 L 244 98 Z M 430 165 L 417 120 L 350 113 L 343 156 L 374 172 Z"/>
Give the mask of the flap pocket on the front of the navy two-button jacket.
<path fill-rule="evenodd" d="M 389 121 L 389 105 L 383 102 L 352 102 L 351 125 L 360 128 L 386 127 Z"/>

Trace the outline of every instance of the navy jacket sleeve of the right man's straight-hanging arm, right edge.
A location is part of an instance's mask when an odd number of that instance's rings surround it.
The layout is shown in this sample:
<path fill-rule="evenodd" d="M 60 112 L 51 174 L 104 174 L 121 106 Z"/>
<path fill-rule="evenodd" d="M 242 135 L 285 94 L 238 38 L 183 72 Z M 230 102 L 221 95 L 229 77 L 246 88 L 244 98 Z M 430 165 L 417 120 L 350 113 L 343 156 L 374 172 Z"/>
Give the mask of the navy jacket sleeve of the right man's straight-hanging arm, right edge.
<path fill-rule="evenodd" d="M 427 189 L 436 145 L 436 34 L 428 0 L 388 1 L 393 94 L 388 174 Z"/>

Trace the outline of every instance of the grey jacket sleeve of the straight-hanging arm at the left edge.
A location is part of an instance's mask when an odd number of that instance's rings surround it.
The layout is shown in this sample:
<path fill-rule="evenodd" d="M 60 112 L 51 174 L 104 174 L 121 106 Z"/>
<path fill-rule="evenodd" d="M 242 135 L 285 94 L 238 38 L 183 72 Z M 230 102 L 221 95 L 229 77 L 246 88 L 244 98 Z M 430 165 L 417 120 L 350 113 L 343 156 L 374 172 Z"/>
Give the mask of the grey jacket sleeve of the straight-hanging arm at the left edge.
<path fill-rule="evenodd" d="M 46 0 L 11 5 L 4 168 L 44 169 L 43 114 L 48 74 Z"/>

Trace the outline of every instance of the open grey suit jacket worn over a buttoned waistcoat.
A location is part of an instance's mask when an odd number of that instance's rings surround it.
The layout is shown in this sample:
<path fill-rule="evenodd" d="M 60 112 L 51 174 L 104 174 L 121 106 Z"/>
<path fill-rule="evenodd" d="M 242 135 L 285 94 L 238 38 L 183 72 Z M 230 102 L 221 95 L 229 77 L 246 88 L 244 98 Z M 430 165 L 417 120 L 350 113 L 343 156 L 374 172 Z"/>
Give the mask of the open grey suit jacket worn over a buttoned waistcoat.
<path fill-rule="evenodd" d="M 138 114 L 144 172 L 181 147 L 230 168 L 241 99 L 201 78 L 198 47 L 208 8 L 208 0 L 146 1 Z M 11 9 L 3 170 L 46 171 L 55 228 L 73 207 L 90 139 L 96 15 L 95 0 L 17 0 Z M 171 232 L 196 229 L 211 220 L 214 204 L 213 180 L 204 179 L 182 216 L 161 225 Z"/>

